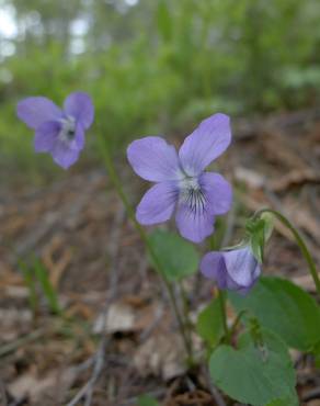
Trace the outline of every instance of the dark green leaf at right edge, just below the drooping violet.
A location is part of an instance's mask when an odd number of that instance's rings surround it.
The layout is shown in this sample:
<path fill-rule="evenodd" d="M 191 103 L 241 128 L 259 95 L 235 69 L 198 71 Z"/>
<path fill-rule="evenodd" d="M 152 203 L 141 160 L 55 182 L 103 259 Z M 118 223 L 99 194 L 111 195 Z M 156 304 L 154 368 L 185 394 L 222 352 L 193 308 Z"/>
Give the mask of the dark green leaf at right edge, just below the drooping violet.
<path fill-rule="evenodd" d="M 320 307 L 293 282 L 261 278 L 248 296 L 229 293 L 232 306 L 249 311 L 289 347 L 311 350 L 320 341 Z"/>

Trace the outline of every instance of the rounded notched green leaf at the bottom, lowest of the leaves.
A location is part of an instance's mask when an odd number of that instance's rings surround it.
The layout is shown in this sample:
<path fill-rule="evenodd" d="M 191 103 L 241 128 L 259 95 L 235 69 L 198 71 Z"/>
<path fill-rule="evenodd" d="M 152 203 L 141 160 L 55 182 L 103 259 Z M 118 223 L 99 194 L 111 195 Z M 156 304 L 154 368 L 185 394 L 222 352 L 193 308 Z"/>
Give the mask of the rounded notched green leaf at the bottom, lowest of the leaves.
<path fill-rule="evenodd" d="M 262 406 L 286 399 L 286 406 L 297 406 L 295 370 L 287 348 L 273 332 L 261 334 L 264 352 L 248 332 L 240 337 L 237 350 L 218 347 L 209 361 L 213 382 L 241 403 Z"/>

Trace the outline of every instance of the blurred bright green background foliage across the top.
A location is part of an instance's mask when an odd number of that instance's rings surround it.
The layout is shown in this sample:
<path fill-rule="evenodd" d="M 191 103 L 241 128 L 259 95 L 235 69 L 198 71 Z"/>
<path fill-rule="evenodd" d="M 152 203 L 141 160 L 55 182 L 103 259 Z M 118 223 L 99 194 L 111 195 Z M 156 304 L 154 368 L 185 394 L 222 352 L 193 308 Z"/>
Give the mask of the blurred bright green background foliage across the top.
<path fill-rule="evenodd" d="M 217 111 L 313 108 L 319 21 L 319 0 L 0 0 L 0 168 L 53 167 L 15 117 L 26 95 L 89 92 L 116 148 Z"/>

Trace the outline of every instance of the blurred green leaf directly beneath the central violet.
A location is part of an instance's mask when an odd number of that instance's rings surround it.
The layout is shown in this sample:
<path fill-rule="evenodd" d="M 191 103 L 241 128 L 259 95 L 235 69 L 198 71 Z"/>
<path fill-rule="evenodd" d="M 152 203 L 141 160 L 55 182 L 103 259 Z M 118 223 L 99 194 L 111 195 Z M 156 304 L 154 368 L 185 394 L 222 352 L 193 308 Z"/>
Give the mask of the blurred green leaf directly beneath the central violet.
<path fill-rule="evenodd" d="M 150 236 L 150 243 L 158 258 L 161 269 L 157 263 L 153 267 L 163 271 L 171 281 L 182 280 L 197 270 L 198 253 L 194 246 L 178 234 L 157 229 Z"/>

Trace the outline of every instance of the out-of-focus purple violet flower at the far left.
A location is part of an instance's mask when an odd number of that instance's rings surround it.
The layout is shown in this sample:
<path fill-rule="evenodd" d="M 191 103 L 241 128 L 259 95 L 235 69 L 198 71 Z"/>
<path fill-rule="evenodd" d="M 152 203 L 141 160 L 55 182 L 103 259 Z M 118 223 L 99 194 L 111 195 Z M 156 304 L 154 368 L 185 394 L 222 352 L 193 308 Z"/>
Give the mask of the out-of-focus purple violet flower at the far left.
<path fill-rule="evenodd" d="M 34 149 L 49 153 L 55 162 L 68 169 L 84 147 L 84 131 L 94 117 L 91 98 L 83 92 L 69 94 L 64 110 L 43 97 L 26 98 L 18 103 L 16 114 L 35 129 Z"/>

